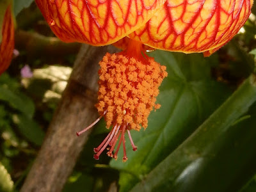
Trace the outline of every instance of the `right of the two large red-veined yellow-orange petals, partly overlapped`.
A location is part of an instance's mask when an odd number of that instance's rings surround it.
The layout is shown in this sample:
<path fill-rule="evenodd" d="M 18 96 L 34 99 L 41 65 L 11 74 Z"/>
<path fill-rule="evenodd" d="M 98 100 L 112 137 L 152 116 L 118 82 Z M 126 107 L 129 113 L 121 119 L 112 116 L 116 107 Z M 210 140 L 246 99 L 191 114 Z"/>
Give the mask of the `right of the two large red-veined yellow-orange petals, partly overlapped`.
<path fill-rule="evenodd" d="M 209 56 L 236 35 L 253 0 L 167 0 L 130 38 L 156 49 Z"/>

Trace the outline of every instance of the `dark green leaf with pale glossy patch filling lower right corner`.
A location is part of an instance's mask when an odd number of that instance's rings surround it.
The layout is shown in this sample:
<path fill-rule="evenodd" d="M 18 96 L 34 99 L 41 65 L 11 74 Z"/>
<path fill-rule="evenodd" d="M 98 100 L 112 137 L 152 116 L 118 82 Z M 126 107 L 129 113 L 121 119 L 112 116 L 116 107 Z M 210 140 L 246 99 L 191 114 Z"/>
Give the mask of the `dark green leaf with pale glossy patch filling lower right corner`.
<path fill-rule="evenodd" d="M 237 184 L 241 182 L 239 175 L 243 178 L 243 171 L 250 170 L 256 160 L 255 109 L 252 118 L 244 118 L 236 125 L 234 122 L 256 100 L 255 78 L 248 77 L 132 191 L 236 191 L 234 185 L 241 187 Z"/>

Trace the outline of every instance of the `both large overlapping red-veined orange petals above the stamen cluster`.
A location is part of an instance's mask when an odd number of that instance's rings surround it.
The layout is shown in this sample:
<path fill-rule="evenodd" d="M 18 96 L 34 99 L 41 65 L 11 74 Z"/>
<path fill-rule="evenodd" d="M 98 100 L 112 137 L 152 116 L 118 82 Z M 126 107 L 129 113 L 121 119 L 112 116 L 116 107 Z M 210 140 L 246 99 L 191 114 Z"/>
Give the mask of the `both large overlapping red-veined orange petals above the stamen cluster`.
<path fill-rule="evenodd" d="M 156 49 L 212 52 L 250 15 L 253 0 L 36 0 L 64 42 L 95 46 L 129 36 Z"/>

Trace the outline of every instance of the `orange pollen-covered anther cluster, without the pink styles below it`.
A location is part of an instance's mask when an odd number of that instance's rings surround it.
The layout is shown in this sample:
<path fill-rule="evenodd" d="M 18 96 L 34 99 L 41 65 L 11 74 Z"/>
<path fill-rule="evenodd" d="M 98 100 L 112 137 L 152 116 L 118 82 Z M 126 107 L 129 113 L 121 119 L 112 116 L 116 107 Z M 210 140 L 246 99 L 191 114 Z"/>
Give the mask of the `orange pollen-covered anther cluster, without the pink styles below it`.
<path fill-rule="evenodd" d="M 167 72 L 154 58 L 145 58 L 141 49 L 134 47 L 132 54 L 127 50 L 107 53 L 100 61 L 96 107 L 100 115 L 106 111 L 107 127 L 129 125 L 127 129 L 140 130 L 147 127 L 150 111 L 160 108 L 156 97 Z"/>

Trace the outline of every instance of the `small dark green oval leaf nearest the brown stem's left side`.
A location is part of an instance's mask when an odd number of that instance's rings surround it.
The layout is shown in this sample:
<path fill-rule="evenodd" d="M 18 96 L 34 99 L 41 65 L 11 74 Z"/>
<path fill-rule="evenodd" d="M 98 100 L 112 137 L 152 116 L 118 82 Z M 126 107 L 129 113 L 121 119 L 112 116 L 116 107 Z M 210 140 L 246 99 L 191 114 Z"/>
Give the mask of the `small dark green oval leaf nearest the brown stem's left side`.
<path fill-rule="evenodd" d="M 26 115 L 13 115 L 13 122 L 17 124 L 20 133 L 36 145 L 41 145 L 44 140 L 44 131 L 39 125 Z"/>

